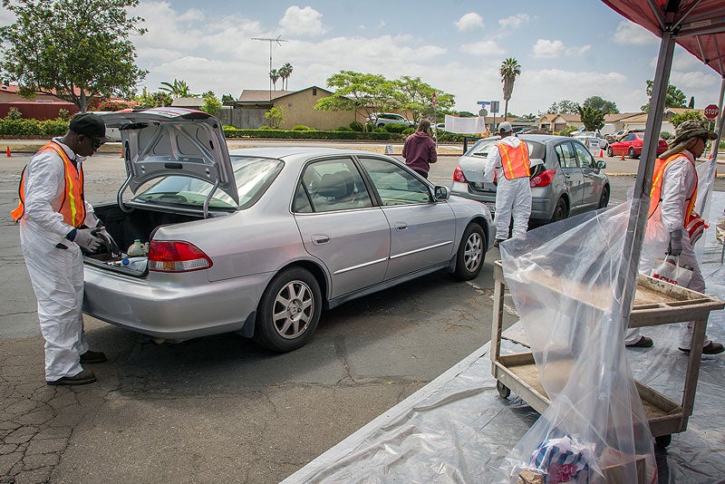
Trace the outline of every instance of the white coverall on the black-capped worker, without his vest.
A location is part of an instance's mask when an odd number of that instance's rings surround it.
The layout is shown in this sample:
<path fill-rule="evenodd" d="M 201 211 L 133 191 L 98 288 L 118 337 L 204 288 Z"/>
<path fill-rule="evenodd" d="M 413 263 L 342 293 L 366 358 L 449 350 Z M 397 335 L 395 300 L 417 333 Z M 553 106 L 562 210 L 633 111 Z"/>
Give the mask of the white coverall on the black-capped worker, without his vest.
<path fill-rule="evenodd" d="M 84 157 L 58 143 L 80 169 Z M 65 187 L 63 160 L 53 150 L 31 157 L 25 168 L 24 216 L 20 219 L 20 244 L 38 301 L 38 320 L 45 339 L 45 379 L 53 382 L 82 372 L 80 355 L 88 350 L 83 335 L 83 263 L 81 248 L 65 238 L 73 227 L 58 212 Z M 98 218 L 85 203 L 85 224 L 95 227 Z M 61 243 L 67 249 L 55 247 Z"/>

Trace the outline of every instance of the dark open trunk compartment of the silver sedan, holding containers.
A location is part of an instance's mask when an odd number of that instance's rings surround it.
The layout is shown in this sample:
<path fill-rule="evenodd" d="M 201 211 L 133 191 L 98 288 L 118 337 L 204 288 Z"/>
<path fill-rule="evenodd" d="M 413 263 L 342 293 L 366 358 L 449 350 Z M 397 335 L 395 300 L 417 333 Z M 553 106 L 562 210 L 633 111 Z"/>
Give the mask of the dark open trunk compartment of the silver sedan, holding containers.
<path fill-rule="evenodd" d="M 124 212 L 116 203 L 109 203 L 93 207 L 96 216 L 103 221 L 106 230 L 121 250 L 120 255 L 111 254 L 110 247 L 102 247 L 94 253 L 84 253 L 87 264 L 100 266 L 109 270 L 118 271 L 134 276 L 144 276 L 147 273 L 147 257 L 128 257 L 129 247 L 134 240 L 139 239 L 141 244 L 150 242 L 153 233 L 160 226 L 190 222 L 202 219 L 201 214 L 178 214 L 166 211 L 134 208 L 131 212 Z M 147 253 L 148 253 L 148 246 Z M 126 259 L 128 264 L 125 264 Z"/>

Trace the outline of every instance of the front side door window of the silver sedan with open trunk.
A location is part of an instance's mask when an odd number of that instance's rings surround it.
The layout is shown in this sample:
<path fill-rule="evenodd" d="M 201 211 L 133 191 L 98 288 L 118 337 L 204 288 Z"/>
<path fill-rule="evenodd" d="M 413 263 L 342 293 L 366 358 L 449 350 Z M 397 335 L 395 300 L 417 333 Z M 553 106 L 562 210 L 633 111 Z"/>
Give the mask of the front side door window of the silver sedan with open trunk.
<path fill-rule="evenodd" d="M 428 185 L 399 164 L 374 158 L 361 158 L 360 162 L 370 175 L 382 205 L 411 205 L 433 201 Z"/>

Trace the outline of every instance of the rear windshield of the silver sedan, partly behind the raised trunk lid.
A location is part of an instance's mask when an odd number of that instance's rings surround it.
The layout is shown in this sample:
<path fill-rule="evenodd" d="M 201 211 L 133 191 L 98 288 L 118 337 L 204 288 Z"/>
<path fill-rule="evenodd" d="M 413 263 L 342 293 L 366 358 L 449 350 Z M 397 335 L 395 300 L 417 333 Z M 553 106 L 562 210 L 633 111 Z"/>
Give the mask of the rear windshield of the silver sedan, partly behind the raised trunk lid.
<path fill-rule="evenodd" d="M 217 189 L 209 200 L 209 208 L 251 207 L 265 193 L 284 165 L 281 160 L 242 156 L 232 156 L 231 161 L 237 181 L 239 205 L 224 191 Z M 211 189 L 213 185 L 208 181 L 174 175 L 150 180 L 134 199 L 201 208 Z"/>

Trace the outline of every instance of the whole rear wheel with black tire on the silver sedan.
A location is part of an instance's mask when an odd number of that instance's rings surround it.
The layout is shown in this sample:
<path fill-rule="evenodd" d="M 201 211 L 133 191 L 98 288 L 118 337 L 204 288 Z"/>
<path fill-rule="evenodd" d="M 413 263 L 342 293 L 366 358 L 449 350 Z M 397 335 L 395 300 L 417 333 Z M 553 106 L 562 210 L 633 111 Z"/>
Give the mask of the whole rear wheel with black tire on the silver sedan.
<path fill-rule="evenodd" d="M 280 353 L 303 346 L 317 329 L 322 303 L 320 285 L 310 271 L 292 267 L 280 272 L 259 301 L 255 343 Z"/>

